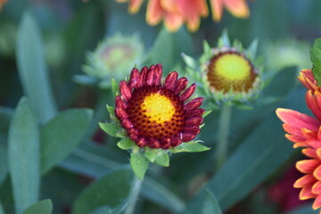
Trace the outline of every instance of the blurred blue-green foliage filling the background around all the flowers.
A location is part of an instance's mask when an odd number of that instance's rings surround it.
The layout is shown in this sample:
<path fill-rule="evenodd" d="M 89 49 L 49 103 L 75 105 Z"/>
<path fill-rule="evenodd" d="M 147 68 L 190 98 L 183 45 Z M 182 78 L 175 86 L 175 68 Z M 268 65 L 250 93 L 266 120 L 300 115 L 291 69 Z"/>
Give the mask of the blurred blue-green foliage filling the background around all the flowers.
<path fill-rule="evenodd" d="M 219 111 L 212 111 L 198 137 L 212 149 L 170 156 L 169 168 L 151 164 L 135 213 L 285 213 L 282 202 L 269 196 L 269 189 L 300 154 L 284 138 L 275 110 L 285 107 L 309 113 L 296 76 L 298 70 L 310 69 L 303 66 L 311 65 L 307 50 L 321 33 L 321 1 L 249 4 L 249 19 L 237 20 L 225 12 L 218 23 L 210 17 L 202 19 L 193 34 L 185 27 L 169 33 L 161 25 L 148 26 L 146 4 L 136 15 L 128 14 L 128 4 L 113 0 L 4 4 L 0 12 L 0 214 L 127 213 L 135 189 L 129 153 L 119 150 L 116 139 L 98 128 L 98 122 L 108 119 L 106 103 L 113 105 L 111 90 L 73 81 L 75 75 L 84 74 L 86 53 L 103 37 L 135 34 L 144 42 L 144 65 L 162 63 L 164 73 L 177 70 L 182 76 L 185 65 L 180 54 L 199 57 L 203 40 L 215 46 L 225 29 L 244 46 L 259 40 L 265 70 L 273 74 L 258 98 L 265 103 L 253 103 L 251 111 L 233 109 L 228 160 L 217 172 L 213 150 Z M 295 61 L 280 61 L 280 57 Z M 258 199 L 259 193 L 263 194 Z M 302 204 L 286 213 L 316 213 L 310 204 Z"/>

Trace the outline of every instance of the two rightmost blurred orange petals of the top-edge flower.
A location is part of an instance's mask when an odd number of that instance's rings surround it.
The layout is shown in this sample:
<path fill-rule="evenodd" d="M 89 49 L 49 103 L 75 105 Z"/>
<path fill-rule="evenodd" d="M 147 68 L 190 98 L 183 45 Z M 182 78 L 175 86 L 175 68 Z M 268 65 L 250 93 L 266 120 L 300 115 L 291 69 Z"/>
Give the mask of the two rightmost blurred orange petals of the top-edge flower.
<path fill-rule="evenodd" d="M 228 12 L 231 12 L 237 18 L 248 18 L 250 10 L 246 0 L 210 0 L 210 7 L 214 21 L 220 21 L 223 14 L 223 7 L 226 6 Z"/>

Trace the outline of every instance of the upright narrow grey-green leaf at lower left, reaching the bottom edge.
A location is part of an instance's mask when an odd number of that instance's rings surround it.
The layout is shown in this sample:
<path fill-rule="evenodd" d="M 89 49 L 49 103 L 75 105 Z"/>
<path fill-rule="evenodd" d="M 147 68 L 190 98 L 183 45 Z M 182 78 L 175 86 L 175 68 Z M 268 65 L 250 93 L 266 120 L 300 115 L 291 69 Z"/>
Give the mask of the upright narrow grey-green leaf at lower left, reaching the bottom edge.
<path fill-rule="evenodd" d="M 29 100 L 21 98 L 9 130 L 9 169 L 17 214 L 37 202 L 39 193 L 39 132 Z"/>

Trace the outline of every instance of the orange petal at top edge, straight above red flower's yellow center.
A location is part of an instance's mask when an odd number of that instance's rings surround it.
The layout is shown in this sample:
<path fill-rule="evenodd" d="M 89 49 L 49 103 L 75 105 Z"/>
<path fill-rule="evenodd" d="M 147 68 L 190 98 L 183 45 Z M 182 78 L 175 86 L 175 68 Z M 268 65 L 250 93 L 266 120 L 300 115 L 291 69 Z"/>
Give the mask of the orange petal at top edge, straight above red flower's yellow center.
<path fill-rule="evenodd" d="M 160 0 L 150 0 L 147 4 L 146 21 L 150 25 L 157 25 L 163 17 Z"/>

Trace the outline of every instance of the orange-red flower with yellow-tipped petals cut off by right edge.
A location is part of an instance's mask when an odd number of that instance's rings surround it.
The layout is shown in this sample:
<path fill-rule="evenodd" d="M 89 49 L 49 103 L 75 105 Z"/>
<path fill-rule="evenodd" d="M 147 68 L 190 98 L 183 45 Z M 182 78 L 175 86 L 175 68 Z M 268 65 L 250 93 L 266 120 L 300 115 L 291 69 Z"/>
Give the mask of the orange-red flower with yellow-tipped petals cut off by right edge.
<path fill-rule="evenodd" d="M 321 92 L 311 70 L 302 70 L 299 79 L 308 89 L 306 101 L 316 118 L 287 109 L 277 109 L 276 114 L 284 122 L 286 138 L 294 148 L 305 147 L 302 153 L 310 158 L 297 162 L 296 168 L 306 175 L 294 187 L 301 188 L 301 200 L 315 199 L 312 207 L 316 210 L 321 208 Z"/>

